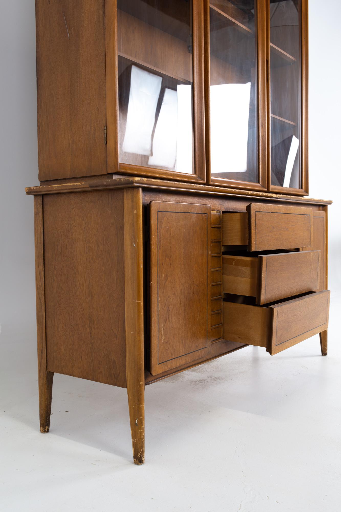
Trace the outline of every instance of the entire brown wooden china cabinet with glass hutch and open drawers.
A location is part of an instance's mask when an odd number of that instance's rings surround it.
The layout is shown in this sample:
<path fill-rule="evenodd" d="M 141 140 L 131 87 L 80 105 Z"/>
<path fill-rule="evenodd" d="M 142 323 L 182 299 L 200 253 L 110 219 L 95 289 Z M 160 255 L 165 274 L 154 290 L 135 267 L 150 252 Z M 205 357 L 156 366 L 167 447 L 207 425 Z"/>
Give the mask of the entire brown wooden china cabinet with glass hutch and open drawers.
<path fill-rule="evenodd" d="M 40 430 L 54 373 L 144 388 L 319 333 L 307 0 L 36 0 Z"/>

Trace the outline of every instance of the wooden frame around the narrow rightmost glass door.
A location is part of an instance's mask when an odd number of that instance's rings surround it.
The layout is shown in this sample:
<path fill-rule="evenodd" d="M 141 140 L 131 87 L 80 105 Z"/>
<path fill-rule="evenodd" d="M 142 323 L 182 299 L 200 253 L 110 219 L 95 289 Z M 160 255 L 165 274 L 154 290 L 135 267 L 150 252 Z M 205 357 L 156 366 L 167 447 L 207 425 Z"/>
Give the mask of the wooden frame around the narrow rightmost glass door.
<path fill-rule="evenodd" d="M 268 62 L 268 81 L 267 81 L 267 147 L 268 147 L 268 190 L 280 194 L 290 194 L 291 196 L 308 196 L 308 0 L 301 0 L 301 188 L 280 187 L 271 185 L 271 158 L 270 158 L 270 4 L 266 6 L 267 31 L 266 31 L 266 52 Z"/>

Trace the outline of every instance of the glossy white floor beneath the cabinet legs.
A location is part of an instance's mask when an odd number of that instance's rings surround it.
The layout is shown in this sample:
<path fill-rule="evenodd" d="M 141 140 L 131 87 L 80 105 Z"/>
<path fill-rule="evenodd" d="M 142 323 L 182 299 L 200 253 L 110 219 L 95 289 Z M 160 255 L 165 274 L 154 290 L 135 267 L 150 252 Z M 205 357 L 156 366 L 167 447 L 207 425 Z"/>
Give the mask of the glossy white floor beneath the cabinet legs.
<path fill-rule="evenodd" d="M 340 297 L 318 336 L 248 347 L 146 387 L 146 463 L 126 391 L 55 375 L 40 434 L 34 327 L 1 339 L 0 510 L 339 512 Z"/>

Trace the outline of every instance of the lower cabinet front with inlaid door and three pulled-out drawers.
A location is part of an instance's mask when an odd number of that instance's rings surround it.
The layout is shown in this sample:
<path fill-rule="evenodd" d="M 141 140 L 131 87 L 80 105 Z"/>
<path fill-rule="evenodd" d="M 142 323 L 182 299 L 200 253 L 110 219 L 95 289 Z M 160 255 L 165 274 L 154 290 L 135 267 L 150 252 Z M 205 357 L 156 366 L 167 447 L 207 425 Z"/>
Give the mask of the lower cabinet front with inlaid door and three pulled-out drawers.
<path fill-rule="evenodd" d="M 209 359 L 220 340 L 274 355 L 327 330 L 324 212 L 162 201 L 149 211 L 152 375 Z"/>

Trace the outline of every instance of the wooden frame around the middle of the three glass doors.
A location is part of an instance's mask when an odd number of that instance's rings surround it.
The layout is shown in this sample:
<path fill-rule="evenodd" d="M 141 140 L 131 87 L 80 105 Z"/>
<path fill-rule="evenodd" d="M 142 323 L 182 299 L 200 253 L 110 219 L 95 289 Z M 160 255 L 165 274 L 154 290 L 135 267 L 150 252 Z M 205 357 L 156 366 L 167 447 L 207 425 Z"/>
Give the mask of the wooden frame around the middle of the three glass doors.
<path fill-rule="evenodd" d="M 258 183 L 249 181 L 212 178 L 210 168 L 210 50 L 209 50 L 209 0 L 205 0 L 205 118 L 206 118 L 206 174 L 207 183 L 212 185 L 247 190 L 265 191 L 267 180 L 267 61 L 266 61 L 266 0 L 257 0 L 257 112 L 258 112 Z M 226 155 L 228 159 L 228 155 Z"/>

